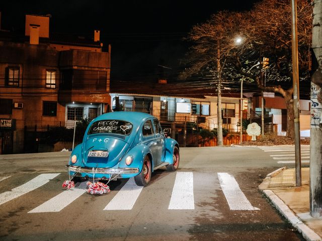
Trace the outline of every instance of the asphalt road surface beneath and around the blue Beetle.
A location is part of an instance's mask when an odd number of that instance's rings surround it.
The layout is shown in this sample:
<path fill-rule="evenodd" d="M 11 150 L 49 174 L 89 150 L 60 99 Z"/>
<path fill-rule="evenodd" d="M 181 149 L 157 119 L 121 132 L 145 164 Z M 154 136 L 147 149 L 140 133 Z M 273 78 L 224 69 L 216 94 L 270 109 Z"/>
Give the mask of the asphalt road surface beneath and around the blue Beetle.
<path fill-rule="evenodd" d="M 103 196 L 84 193 L 84 184 L 61 187 L 69 153 L 0 156 L 0 240 L 302 240 L 257 189 L 268 173 L 285 166 L 270 153 L 256 147 L 180 152 L 177 172 L 157 170 L 141 190 L 131 189 L 128 179 L 114 181 Z M 8 199 L 39 175 L 55 177 Z M 52 210 L 72 195 L 77 198 Z M 243 195 L 247 201 L 238 199 Z"/>

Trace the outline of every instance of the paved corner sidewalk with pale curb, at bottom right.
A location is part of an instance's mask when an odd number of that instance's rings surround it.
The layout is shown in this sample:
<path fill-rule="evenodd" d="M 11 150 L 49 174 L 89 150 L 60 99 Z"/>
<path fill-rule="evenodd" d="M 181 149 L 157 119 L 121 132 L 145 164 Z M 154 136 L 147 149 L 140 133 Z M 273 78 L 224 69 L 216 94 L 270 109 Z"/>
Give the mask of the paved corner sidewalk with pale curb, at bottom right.
<path fill-rule="evenodd" d="M 309 214 L 309 168 L 301 171 L 301 187 L 295 187 L 295 168 L 280 168 L 268 174 L 259 188 L 306 240 L 322 240 L 322 219 Z"/>

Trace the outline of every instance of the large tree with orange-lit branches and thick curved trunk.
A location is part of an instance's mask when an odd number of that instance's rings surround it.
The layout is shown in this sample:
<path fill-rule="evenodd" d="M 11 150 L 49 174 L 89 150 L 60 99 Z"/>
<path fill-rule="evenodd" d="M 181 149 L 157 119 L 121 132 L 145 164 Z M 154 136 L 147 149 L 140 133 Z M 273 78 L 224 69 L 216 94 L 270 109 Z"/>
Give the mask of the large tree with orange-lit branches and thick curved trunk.
<path fill-rule="evenodd" d="M 310 1 L 297 0 L 302 81 L 309 80 L 311 13 Z M 243 40 L 241 45 L 235 43 L 237 36 Z M 260 90 L 282 95 L 287 107 L 287 136 L 294 137 L 290 0 L 263 1 L 244 13 L 219 12 L 206 23 L 194 26 L 188 40 L 193 46 L 187 56 L 190 65 L 182 73 L 183 78 L 207 76 L 210 70 L 217 71 L 218 77 L 213 80 L 222 78 L 223 84 L 243 79 Z M 220 71 L 214 64 L 218 49 Z M 263 57 L 269 58 L 268 68 L 263 68 Z M 209 82 L 218 84 L 218 81 Z"/>

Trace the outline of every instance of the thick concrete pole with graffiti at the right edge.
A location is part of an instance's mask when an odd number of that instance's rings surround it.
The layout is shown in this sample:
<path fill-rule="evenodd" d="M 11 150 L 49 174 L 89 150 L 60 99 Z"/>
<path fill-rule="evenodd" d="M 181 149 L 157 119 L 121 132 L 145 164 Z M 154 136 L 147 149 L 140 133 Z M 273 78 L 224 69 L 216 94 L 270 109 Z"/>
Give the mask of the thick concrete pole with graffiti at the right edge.
<path fill-rule="evenodd" d="M 322 217 L 322 3 L 313 2 L 312 49 L 318 68 L 311 78 L 311 127 L 310 127 L 310 214 Z M 314 104 L 313 104 L 314 103 Z"/>

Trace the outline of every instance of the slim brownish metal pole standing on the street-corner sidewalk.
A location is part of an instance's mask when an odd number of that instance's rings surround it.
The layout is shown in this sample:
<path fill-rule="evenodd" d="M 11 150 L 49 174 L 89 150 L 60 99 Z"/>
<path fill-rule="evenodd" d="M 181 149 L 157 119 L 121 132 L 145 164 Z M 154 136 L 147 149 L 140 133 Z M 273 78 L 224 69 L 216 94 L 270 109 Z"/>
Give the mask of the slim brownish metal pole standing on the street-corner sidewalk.
<path fill-rule="evenodd" d="M 300 115 L 298 88 L 298 46 L 297 46 L 297 14 L 296 0 L 291 1 L 292 12 L 292 63 L 293 63 L 293 109 L 294 109 L 294 143 L 295 143 L 295 181 L 296 186 L 302 185 L 301 177 L 301 145 L 300 145 Z"/>

